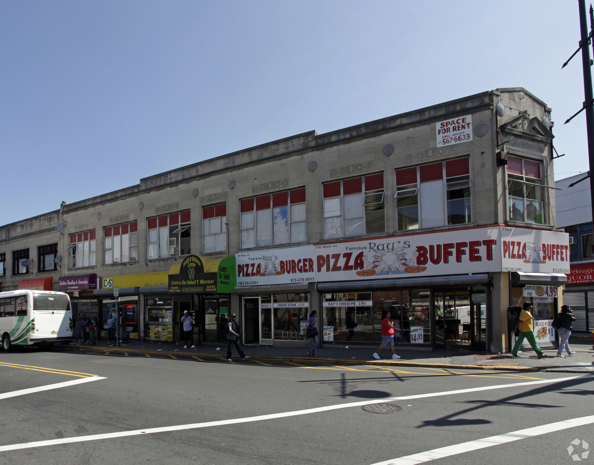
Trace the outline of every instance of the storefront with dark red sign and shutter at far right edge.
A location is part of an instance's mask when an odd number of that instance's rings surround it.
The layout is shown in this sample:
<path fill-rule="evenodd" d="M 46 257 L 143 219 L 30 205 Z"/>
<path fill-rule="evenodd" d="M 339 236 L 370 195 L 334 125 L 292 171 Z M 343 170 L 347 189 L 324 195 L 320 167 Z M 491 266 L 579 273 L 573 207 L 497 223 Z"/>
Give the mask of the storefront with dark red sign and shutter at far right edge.
<path fill-rule="evenodd" d="M 574 331 L 589 333 L 594 329 L 594 263 L 570 265 L 563 303 L 571 306 L 576 317 Z"/>

